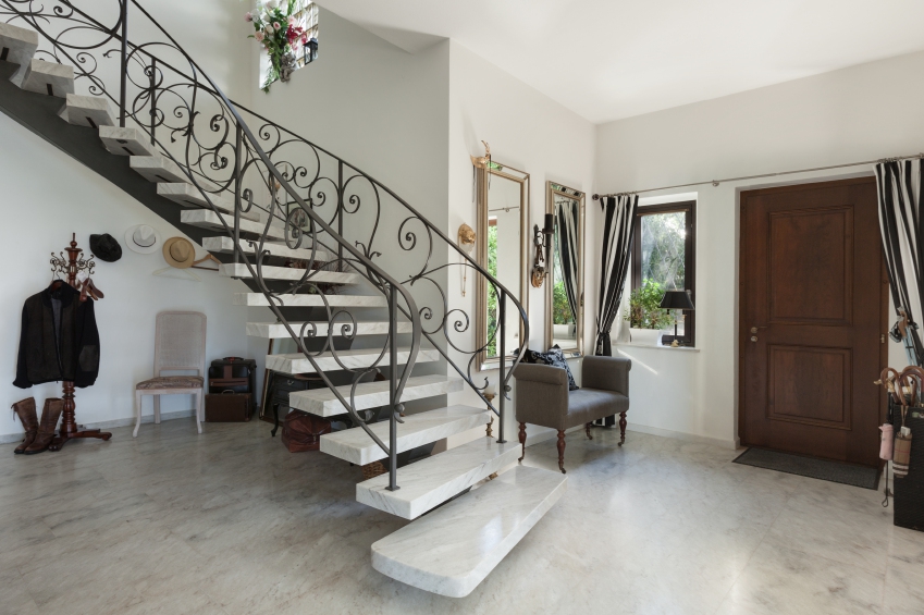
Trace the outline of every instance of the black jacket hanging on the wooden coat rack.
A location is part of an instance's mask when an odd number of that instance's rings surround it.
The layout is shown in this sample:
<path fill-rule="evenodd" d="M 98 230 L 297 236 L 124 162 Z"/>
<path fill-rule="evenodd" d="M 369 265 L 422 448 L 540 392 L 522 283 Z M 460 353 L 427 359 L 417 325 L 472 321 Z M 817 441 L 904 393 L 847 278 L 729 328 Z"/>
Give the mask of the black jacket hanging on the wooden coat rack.
<path fill-rule="evenodd" d="M 42 382 L 70 380 L 89 386 L 99 373 L 99 331 L 94 302 L 61 283 L 26 299 L 20 359 L 13 384 L 28 389 Z"/>

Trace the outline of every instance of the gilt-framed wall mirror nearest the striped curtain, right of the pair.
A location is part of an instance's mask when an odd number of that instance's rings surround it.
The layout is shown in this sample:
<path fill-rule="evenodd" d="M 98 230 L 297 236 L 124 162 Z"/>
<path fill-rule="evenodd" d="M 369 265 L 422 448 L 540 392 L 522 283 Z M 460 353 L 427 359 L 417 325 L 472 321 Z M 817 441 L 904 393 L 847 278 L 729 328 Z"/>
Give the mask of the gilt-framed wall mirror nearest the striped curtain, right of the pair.
<path fill-rule="evenodd" d="M 546 182 L 553 214 L 552 267 L 545 280 L 545 340 L 566 357 L 583 354 L 584 193 Z"/>

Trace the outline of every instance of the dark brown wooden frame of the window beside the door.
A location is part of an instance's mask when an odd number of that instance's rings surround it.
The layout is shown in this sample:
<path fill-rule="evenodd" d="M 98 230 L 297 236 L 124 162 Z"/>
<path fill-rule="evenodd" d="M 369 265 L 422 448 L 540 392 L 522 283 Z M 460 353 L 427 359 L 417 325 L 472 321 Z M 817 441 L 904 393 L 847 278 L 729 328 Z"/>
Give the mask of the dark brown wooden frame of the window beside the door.
<path fill-rule="evenodd" d="M 642 218 L 657 213 L 686 213 L 687 237 L 683 245 L 683 284 L 690 292 L 693 306 L 697 305 L 697 201 L 682 200 L 662 205 L 640 205 L 636 208 L 636 220 L 632 227 L 632 287 L 635 291 L 642 285 Z M 697 343 L 697 311 L 687 311 L 683 322 L 683 335 L 677 339 L 683 346 L 695 347 Z M 674 335 L 663 335 L 662 343 L 669 345 Z"/>

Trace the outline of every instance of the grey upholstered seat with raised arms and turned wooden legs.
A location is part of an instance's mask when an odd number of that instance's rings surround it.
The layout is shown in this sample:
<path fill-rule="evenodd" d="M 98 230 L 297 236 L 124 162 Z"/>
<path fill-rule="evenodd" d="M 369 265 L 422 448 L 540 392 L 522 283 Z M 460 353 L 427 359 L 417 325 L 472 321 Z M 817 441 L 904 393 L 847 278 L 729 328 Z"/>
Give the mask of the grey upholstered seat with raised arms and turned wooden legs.
<path fill-rule="evenodd" d="M 520 364 L 517 379 L 517 421 L 526 456 L 526 423 L 558 430 L 558 469 L 565 473 L 565 430 L 587 428 L 604 417 L 619 415 L 619 446 L 626 441 L 626 413 L 629 410 L 629 370 L 632 361 L 615 357 L 584 357 L 581 388 L 568 391 L 568 374 L 558 367 Z M 522 460 L 523 457 L 520 457 Z"/>

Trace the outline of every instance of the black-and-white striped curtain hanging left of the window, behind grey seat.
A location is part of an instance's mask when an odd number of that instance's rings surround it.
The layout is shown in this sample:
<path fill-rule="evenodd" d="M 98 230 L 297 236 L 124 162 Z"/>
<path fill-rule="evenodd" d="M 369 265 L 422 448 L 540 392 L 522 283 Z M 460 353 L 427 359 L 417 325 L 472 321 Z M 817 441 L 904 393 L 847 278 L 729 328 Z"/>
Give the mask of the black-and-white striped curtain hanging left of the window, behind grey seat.
<path fill-rule="evenodd" d="M 623 302 L 623 287 L 626 285 L 626 274 L 629 272 L 629 258 L 632 255 L 632 225 L 636 221 L 636 209 L 639 206 L 639 195 L 620 195 L 607 197 L 602 204 L 604 218 L 603 226 L 603 260 L 600 270 L 600 305 L 596 312 L 596 344 L 594 354 L 613 356 L 609 346 L 609 331 L 613 322 L 619 316 L 619 304 Z"/>

